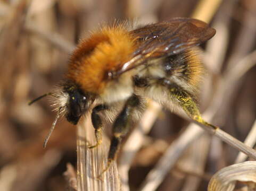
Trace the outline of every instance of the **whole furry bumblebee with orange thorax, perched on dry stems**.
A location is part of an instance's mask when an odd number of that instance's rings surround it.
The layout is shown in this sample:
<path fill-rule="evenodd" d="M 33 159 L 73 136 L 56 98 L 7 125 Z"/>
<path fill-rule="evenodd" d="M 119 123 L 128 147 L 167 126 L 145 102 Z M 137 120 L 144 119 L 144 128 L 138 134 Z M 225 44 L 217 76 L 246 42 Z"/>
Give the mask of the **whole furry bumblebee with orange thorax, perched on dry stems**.
<path fill-rule="evenodd" d="M 193 120 L 216 128 L 202 119 L 196 104 L 203 74 L 197 46 L 215 33 L 208 24 L 189 18 L 134 30 L 113 24 L 92 32 L 73 51 L 64 80 L 51 93 L 57 111 L 51 132 L 61 115 L 77 125 L 91 110 L 96 144 L 89 148 L 93 149 L 102 142 L 103 120 L 111 121 L 109 167 L 122 137 L 141 116 L 145 98 L 170 110 L 181 108 Z"/>

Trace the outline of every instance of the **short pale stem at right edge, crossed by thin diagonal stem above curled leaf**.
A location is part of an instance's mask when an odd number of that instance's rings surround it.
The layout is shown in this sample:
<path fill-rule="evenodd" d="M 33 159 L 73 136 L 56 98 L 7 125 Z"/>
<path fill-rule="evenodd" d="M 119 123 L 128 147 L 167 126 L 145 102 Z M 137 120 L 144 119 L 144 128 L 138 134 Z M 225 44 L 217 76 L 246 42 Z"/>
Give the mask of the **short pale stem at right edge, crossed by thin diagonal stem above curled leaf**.
<path fill-rule="evenodd" d="M 254 124 L 251 128 L 250 133 L 247 135 L 247 137 L 245 138 L 244 144 L 253 147 L 256 143 L 256 120 L 254 121 Z M 240 163 L 240 162 L 244 162 L 247 158 L 247 155 L 245 155 L 244 153 L 240 152 L 235 160 L 235 163 Z"/>

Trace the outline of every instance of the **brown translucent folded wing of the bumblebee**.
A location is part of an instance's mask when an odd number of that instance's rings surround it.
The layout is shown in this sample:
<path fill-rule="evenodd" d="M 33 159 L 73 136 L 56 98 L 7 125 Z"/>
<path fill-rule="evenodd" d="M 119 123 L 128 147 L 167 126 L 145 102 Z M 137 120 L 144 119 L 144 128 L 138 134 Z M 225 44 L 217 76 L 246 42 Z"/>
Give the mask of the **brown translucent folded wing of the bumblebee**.
<path fill-rule="evenodd" d="M 145 63 L 148 59 L 176 55 L 198 46 L 212 38 L 216 30 L 197 19 L 175 18 L 146 25 L 130 33 L 137 39 L 137 49 L 133 53 L 133 59 L 123 65 L 119 74 Z"/>

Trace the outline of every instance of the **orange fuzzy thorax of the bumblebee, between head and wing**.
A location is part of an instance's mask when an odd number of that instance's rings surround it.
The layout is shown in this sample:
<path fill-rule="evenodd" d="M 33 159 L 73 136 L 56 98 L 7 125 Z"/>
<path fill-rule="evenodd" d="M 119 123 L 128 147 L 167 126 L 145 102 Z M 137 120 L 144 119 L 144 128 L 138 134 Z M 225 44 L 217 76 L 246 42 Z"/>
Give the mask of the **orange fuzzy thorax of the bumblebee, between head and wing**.
<path fill-rule="evenodd" d="M 67 77 L 81 90 L 100 94 L 109 81 L 108 72 L 120 70 L 135 46 L 135 39 L 122 25 L 96 31 L 73 52 Z"/>

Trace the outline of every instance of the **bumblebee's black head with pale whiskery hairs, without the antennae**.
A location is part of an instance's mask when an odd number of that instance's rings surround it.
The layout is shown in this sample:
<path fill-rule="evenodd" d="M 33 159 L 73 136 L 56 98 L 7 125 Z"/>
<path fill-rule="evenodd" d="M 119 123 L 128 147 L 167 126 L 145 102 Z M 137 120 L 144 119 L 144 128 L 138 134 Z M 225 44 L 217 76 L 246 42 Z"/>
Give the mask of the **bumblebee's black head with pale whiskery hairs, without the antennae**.
<path fill-rule="evenodd" d="M 77 125 L 80 117 L 85 114 L 94 100 L 92 94 L 82 92 L 73 84 L 61 85 L 56 89 L 53 98 L 53 106 L 56 110 L 63 108 L 60 112 L 73 125 Z"/>

